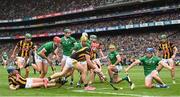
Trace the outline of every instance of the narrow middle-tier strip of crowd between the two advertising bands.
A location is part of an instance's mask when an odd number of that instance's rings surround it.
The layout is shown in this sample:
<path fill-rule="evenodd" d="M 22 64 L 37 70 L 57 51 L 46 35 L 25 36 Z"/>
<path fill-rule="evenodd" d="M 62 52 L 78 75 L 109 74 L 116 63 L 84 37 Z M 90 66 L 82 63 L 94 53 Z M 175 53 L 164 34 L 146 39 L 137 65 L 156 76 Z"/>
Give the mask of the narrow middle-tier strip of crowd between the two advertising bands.
<path fill-rule="evenodd" d="M 93 29 L 93 28 L 101 28 L 101 27 L 109 27 L 109 26 L 119 26 L 119 25 L 128 25 L 128 24 L 140 24 L 140 23 L 147 23 L 147 22 L 157 22 L 157 21 L 165 21 L 165 20 L 175 20 L 180 19 L 180 13 L 174 12 L 174 13 L 166 13 L 161 15 L 147 15 L 143 17 L 136 17 L 136 18 L 127 18 L 127 19 L 119 19 L 114 21 L 100 21 L 96 23 L 80 23 L 76 25 L 69 25 L 69 26 L 61 26 L 61 27 L 53 27 L 53 28 L 44 28 L 41 30 L 33 30 L 33 31 L 22 31 L 22 32 L 6 32 L 1 33 L 0 37 L 6 37 L 6 36 L 16 36 L 16 35 L 24 35 L 25 33 L 31 33 L 31 34 L 40 34 L 40 33 L 56 33 L 56 32 L 62 32 L 65 28 L 70 28 L 76 33 L 79 33 L 80 30 L 83 29 Z"/>

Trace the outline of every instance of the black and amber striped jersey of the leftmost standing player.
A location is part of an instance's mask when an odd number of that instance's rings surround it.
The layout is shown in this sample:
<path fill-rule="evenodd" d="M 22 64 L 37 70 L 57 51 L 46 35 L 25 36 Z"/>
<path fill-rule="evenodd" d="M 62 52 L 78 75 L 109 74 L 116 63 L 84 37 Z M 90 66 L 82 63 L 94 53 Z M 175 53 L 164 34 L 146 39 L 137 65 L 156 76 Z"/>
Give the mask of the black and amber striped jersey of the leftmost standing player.
<path fill-rule="evenodd" d="M 17 47 L 19 48 L 19 57 L 29 57 L 30 50 L 33 48 L 33 42 L 21 40 L 17 43 Z"/>

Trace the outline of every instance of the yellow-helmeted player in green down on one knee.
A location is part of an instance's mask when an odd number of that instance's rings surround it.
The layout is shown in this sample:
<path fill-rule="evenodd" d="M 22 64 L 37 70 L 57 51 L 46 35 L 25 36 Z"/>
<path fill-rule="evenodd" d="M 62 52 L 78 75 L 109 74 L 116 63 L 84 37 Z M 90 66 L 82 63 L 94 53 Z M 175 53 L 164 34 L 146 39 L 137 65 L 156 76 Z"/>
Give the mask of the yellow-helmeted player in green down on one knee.
<path fill-rule="evenodd" d="M 116 51 L 116 47 L 114 44 L 109 45 L 109 53 L 108 53 L 108 58 L 109 58 L 109 64 L 108 64 L 108 73 L 110 77 L 110 82 L 111 83 L 119 83 L 124 80 L 126 80 L 130 84 L 130 88 L 133 89 L 135 87 L 134 83 L 131 82 L 130 78 L 128 76 L 124 78 L 120 78 L 118 76 L 118 73 L 122 71 L 122 66 L 121 66 L 121 56 L 119 53 Z"/>

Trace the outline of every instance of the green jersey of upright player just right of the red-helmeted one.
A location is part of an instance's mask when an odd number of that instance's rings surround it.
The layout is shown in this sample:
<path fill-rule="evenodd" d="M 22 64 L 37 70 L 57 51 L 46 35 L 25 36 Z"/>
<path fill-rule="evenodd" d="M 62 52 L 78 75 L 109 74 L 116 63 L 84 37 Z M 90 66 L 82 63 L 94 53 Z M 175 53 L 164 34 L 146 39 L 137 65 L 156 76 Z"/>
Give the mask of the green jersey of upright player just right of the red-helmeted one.
<path fill-rule="evenodd" d="M 75 42 L 76 40 L 73 37 L 61 38 L 61 46 L 63 49 L 63 55 L 70 56 L 72 54 L 72 48 L 74 47 Z"/>

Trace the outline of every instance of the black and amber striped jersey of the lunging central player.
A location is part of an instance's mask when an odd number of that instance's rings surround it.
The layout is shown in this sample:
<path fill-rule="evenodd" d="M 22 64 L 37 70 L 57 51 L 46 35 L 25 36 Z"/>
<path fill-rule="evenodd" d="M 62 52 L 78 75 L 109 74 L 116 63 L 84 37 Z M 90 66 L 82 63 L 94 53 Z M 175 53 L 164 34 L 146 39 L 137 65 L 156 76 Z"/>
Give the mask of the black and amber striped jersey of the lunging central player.
<path fill-rule="evenodd" d="M 85 55 L 90 55 L 90 48 L 88 47 L 81 48 L 80 50 L 74 52 L 71 55 L 71 58 L 77 61 L 86 61 Z"/>

